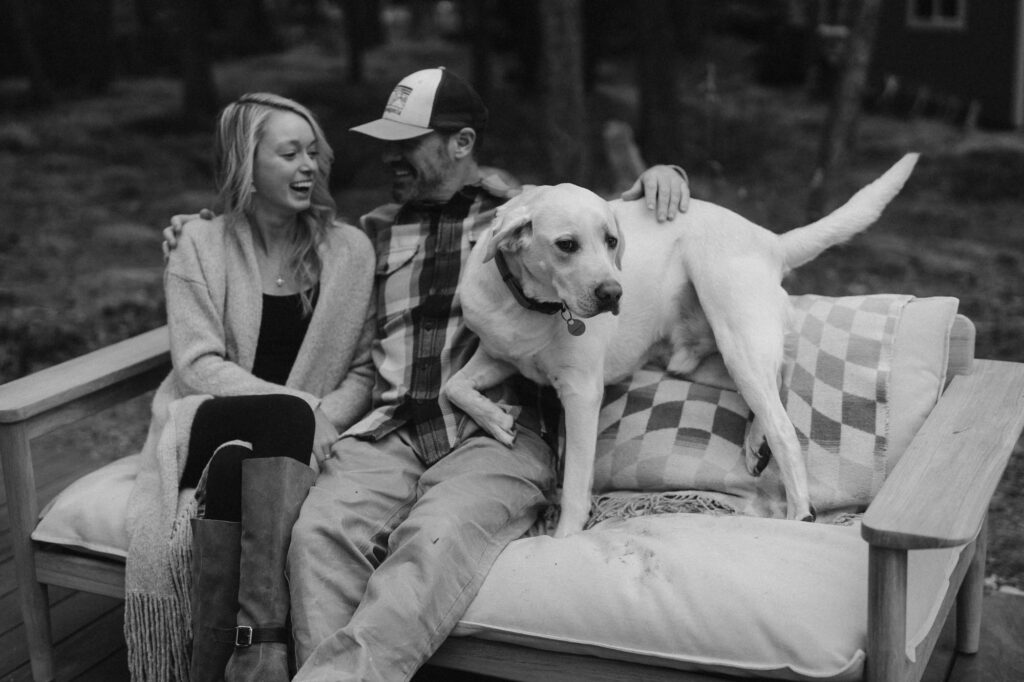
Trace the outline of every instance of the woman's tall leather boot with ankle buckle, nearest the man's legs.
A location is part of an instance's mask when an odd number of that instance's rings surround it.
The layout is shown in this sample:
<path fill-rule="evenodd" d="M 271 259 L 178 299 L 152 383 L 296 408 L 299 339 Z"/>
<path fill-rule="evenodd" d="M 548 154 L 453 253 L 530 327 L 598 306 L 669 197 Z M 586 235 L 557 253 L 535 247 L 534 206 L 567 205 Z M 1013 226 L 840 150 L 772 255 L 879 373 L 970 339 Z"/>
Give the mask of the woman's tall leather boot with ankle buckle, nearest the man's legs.
<path fill-rule="evenodd" d="M 285 560 L 292 526 L 314 478 L 312 469 L 291 458 L 257 458 L 242 465 L 239 613 L 227 682 L 290 679 Z"/>

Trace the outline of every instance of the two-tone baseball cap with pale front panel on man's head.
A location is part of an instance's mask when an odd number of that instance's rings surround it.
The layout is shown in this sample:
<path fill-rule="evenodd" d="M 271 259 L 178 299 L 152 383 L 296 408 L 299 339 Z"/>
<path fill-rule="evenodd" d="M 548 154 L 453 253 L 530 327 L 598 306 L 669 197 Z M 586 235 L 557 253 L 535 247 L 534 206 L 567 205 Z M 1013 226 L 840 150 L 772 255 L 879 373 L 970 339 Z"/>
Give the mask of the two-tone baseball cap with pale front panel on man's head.
<path fill-rule="evenodd" d="M 453 128 L 483 132 L 486 125 L 487 108 L 476 90 L 438 67 L 401 79 L 391 91 L 381 118 L 349 130 L 377 139 L 399 140 Z"/>

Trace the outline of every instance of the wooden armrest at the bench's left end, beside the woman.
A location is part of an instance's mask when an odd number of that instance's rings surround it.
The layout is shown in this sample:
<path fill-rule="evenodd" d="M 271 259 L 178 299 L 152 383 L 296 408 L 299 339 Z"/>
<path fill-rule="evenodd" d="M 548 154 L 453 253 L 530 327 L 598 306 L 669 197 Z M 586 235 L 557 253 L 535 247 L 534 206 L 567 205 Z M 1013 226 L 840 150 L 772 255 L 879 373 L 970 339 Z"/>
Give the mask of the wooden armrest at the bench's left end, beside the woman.
<path fill-rule="evenodd" d="M 2 384 L 0 426 L 40 421 L 61 408 L 69 413 L 42 420 L 49 423 L 30 429 L 31 437 L 154 388 L 170 370 L 169 345 L 161 327 Z"/>

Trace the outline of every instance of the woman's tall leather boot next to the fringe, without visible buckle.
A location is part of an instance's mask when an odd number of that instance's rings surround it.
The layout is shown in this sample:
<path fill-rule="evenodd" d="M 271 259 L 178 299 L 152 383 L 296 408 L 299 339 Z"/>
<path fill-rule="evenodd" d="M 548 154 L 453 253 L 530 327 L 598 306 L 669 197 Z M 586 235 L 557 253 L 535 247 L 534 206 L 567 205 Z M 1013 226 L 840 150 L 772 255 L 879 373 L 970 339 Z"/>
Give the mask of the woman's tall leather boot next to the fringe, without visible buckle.
<path fill-rule="evenodd" d="M 191 682 L 219 682 L 234 651 L 225 633 L 239 610 L 239 555 L 242 524 L 191 519 L 193 592 Z"/>

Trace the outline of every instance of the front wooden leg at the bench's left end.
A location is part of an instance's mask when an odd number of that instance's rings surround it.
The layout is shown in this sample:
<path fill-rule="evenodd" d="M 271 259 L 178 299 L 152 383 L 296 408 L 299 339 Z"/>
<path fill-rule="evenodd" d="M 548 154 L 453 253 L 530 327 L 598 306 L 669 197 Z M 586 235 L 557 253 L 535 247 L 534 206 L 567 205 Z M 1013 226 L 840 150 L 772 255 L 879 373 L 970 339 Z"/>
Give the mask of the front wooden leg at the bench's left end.
<path fill-rule="evenodd" d="M 36 580 L 36 557 L 32 530 L 36 527 L 39 505 L 36 477 L 32 469 L 29 436 L 23 424 L 0 427 L 0 456 L 10 515 L 10 540 L 14 552 L 14 574 L 25 634 L 29 640 L 32 679 L 48 682 L 56 677 L 53 642 L 50 636 L 50 604 L 46 586 Z"/>

